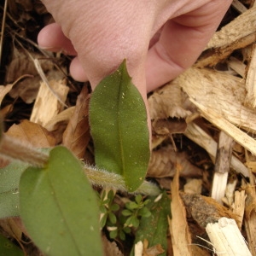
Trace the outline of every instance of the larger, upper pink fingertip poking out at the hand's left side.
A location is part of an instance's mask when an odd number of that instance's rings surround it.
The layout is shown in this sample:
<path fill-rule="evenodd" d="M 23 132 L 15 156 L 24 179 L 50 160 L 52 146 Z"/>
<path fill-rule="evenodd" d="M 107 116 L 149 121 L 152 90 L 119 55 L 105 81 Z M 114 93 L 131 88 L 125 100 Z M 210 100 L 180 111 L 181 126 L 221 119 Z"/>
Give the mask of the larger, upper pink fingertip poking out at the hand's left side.
<path fill-rule="evenodd" d="M 52 23 L 45 26 L 38 34 L 38 45 L 42 49 L 51 51 L 63 51 L 67 55 L 77 55 L 71 41 L 65 37 L 61 30 L 61 26 Z"/>

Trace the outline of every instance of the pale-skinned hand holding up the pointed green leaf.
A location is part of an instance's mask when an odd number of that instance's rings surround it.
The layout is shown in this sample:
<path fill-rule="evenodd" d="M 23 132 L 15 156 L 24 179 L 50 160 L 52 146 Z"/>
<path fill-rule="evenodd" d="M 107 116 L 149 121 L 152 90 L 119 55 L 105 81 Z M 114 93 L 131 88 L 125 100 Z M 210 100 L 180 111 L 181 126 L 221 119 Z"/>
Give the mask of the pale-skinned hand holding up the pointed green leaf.
<path fill-rule="evenodd" d="M 40 47 L 75 55 L 70 73 L 92 89 L 126 59 L 146 102 L 148 91 L 196 61 L 232 0 L 42 2 L 56 23 L 39 33 Z"/>

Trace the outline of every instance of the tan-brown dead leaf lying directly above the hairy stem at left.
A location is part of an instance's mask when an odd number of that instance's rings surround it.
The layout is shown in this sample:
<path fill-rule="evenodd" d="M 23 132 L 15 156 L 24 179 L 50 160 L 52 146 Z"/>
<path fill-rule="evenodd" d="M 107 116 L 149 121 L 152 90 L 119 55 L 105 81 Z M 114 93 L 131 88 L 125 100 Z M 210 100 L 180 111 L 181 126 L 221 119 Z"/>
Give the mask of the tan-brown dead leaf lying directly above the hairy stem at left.
<path fill-rule="evenodd" d="M 55 146 L 55 137 L 41 125 L 24 120 L 20 125 L 12 125 L 6 132 L 21 142 L 30 143 L 37 148 L 50 148 Z"/>

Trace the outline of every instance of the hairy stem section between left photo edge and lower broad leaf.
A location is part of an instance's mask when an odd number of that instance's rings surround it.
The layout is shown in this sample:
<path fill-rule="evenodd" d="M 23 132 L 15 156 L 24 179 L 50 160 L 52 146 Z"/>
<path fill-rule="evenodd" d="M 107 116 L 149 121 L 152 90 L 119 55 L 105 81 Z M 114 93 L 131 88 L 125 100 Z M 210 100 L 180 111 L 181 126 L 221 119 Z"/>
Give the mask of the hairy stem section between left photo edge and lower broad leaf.
<path fill-rule="evenodd" d="M 20 160 L 40 168 L 44 167 L 49 159 L 48 154 L 5 134 L 2 134 L 1 138 L 0 155 L 7 160 Z"/>

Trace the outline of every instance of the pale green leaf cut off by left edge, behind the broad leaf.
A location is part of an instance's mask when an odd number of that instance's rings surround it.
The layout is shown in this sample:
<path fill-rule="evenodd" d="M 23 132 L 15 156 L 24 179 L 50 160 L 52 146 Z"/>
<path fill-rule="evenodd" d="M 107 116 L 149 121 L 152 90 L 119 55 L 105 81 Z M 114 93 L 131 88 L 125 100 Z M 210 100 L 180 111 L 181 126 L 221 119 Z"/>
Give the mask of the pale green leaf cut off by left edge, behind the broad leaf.
<path fill-rule="evenodd" d="M 0 218 L 20 215 L 19 183 L 27 164 L 12 162 L 0 168 Z"/>

